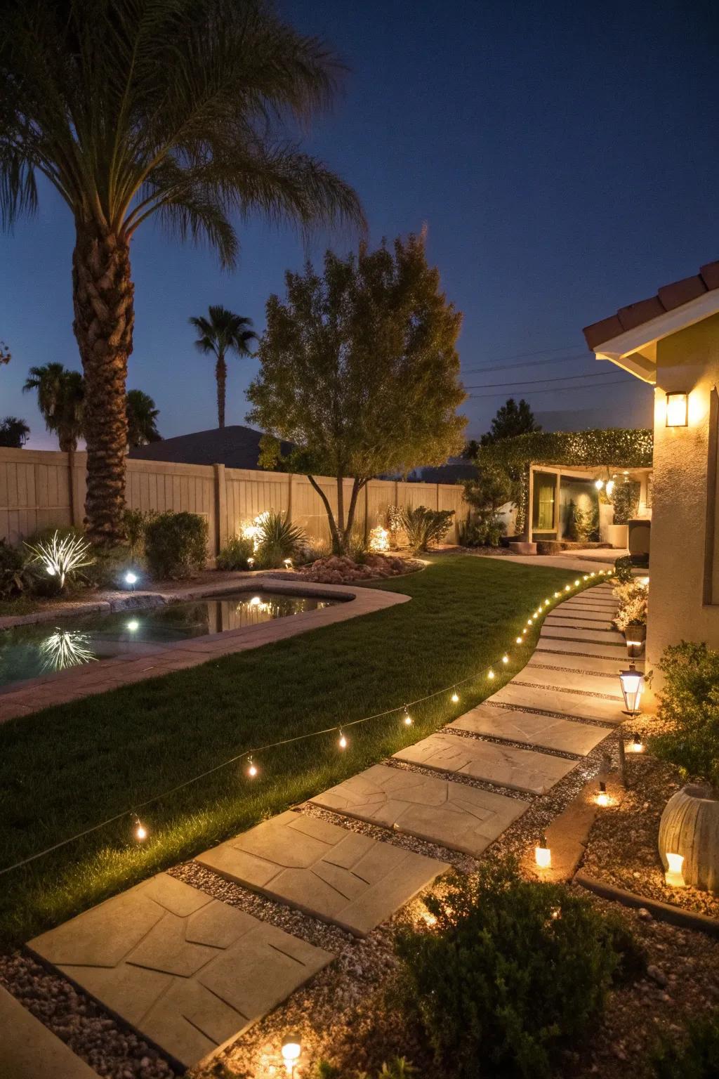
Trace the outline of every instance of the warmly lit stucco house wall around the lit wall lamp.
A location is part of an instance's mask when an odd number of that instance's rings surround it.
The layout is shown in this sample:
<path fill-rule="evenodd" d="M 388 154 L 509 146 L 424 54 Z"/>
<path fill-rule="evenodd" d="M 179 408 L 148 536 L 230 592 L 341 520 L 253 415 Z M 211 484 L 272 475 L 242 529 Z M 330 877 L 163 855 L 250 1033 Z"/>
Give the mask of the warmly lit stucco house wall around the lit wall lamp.
<path fill-rule="evenodd" d="M 656 343 L 648 669 L 668 644 L 719 648 L 719 315 Z M 689 394 L 686 427 L 666 426 L 666 394 Z"/>

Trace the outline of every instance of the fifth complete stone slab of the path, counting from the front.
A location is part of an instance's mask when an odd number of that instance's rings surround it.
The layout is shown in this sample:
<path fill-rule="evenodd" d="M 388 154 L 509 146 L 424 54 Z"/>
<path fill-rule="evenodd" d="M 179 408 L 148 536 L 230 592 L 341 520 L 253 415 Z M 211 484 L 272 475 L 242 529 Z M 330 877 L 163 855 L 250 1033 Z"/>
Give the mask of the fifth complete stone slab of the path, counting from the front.
<path fill-rule="evenodd" d="M 572 723 L 557 715 L 539 715 L 518 709 L 493 708 L 479 705 L 448 724 L 450 729 L 471 730 L 489 738 L 526 742 L 543 749 L 586 756 L 610 733 L 607 727 L 593 727 L 589 723 Z"/>

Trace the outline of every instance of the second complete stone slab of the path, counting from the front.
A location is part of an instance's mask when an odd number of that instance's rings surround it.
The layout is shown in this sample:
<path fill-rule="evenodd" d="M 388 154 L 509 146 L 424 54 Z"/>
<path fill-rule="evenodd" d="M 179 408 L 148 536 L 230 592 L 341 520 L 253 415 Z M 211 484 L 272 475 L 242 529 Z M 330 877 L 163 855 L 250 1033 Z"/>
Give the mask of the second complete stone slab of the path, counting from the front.
<path fill-rule="evenodd" d="M 195 860 L 358 935 L 448 869 L 434 858 L 291 809 Z"/>

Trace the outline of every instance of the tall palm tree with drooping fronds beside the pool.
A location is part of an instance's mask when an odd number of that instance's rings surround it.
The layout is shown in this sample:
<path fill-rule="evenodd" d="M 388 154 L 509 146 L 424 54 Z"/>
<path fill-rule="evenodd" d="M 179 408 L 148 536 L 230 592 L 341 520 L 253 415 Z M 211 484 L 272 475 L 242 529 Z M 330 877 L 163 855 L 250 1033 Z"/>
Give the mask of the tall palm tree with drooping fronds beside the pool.
<path fill-rule="evenodd" d="M 122 534 L 133 350 L 130 243 L 157 218 L 233 267 L 233 219 L 361 223 L 355 192 L 296 133 L 341 74 L 271 0 L 5 0 L 0 211 L 38 205 L 38 174 L 75 227 L 74 333 L 85 373 L 88 532 Z"/>

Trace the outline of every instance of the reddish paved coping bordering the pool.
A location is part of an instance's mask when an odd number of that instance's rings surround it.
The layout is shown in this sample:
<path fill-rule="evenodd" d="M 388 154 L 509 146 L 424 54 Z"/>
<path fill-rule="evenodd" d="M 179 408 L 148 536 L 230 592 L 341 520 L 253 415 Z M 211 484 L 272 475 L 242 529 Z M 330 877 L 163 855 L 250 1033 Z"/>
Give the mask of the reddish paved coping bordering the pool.
<path fill-rule="evenodd" d="M 18 682 L 16 687 L 11 684 L 6 689 L 0 691 L 0 723 L 30 715 L 53 705 L 67 704 L 95 694 L 107 693 L 123 685 L 132 685 L 135 682 L 160 678 L 172 671 L 196 667 L 220 656 L 259 648 L 264 644 L 284 641 L 312 629 L 346 622 L 359 615 L 385 611 L 398 603 L 406 603 L 411 599 L 410 596 L 402 592 L 385 591 L 379 588 L 320 585 L 309 582 L 303 584 L 296 579 L 282 581 L 264 574 L 252 574 L 251 577 L 239 578 L 234 583 L 224 581 L 222 584 L 218 582 L 217 585 L 210 584 L 172 590 L 171 593 L 147 592 L 143 595 L 148 597 L 160 596 L 163 602 L 168 600 L 181 602 L 227 591 L 251 592 L 262 588 L 285 592 L 288 596 L 340 599 L 345 602 L 322 607 L 319 611 L 303 611 L 301 614 L 292 615 L 292 617 L 276 618 L 258 626 L 230 629 L 223 633 L 209 633 L 207 637 L 191 638 L 188 641 L 176 641 L 156 650 L 143 652 L 139 656 L 137 654 L 114 656 L 112 659 L 88 664 L 86 667 L 77 667 L 54 674 L 43 674 Z M 139 598 L 137 592 L 134 596 Z M 153 604 L 148 603 L 147 605 Z M 109 613 L 112 610 L 130 610 L 130 607 L 111 607 L 109 603 L 106 607 L 103 602 L 102 605 L 88 604 L 87 609 L 80 613 L 93 614 L 106 610 Z M 132 610 L 140 610 L 140 607 L 136 604 Z M 37 620 L 49 622 L 58 616 L 59 613 L 55 612 L 50 618 Z"/>

